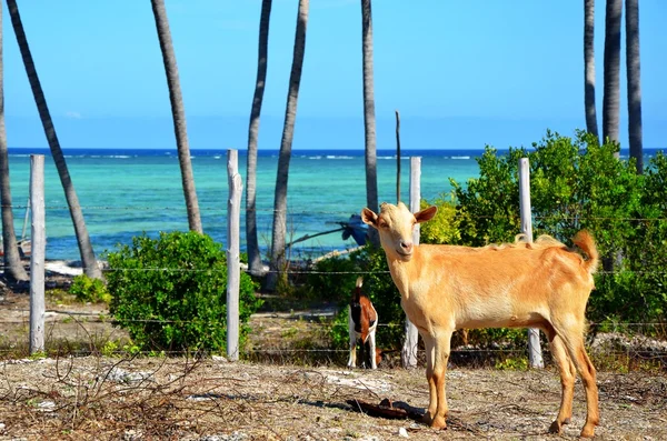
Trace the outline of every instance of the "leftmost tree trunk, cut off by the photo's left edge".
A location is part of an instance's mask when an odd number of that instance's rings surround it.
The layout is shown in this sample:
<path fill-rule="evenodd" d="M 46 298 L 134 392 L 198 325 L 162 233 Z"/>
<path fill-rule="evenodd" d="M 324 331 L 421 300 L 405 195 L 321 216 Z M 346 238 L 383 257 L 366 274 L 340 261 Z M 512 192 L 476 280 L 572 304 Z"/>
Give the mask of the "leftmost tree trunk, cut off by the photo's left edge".
<path fill-rule="evenodd" d="M 16 281 L 28 280 L 28 273 L 21 262 L 21 254 L 13 228 L 11 190 L 9 179 L 9 153 L 7 151 L 7 131 L 4 130 L 4 88 L 2 64 L 2 2 L 0 1 L 0 200 L 2 201 L 2 249 L 4 251 L 4 277 Z"/>

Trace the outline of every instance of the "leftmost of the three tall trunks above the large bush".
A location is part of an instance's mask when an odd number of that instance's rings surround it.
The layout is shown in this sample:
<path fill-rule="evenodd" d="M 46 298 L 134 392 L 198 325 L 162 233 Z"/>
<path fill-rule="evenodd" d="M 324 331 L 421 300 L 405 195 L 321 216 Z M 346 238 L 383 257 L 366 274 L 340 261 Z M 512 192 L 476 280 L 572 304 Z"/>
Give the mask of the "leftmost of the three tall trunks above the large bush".
<path fill-rule="evenodd" d="M 595 134 L 597 111 L 595 108 L 595 0 L 584 0 L 584 106 L 586 108 L 586 130 Z"/>

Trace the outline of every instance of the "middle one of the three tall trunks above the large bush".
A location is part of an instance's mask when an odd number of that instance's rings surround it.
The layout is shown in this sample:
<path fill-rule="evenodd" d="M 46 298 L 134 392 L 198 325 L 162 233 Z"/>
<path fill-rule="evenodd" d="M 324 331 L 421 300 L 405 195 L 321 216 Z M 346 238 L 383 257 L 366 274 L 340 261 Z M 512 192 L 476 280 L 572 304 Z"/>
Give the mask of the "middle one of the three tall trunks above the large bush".
<path fill-rule="evenodd" d="M 607 10 L 605 17 L 605 96 L 603 98 L 603 142 L 607 142 L 607 140 L 618 142 L 621 16 L 623 0 L 607 0 Z"/>

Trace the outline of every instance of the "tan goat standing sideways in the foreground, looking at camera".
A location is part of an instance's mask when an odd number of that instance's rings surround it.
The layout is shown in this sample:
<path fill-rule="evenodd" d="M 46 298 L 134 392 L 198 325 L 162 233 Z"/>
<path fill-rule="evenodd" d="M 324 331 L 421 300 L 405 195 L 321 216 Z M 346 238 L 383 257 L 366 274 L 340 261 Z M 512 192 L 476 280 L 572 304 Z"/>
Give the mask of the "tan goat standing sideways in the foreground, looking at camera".
<path fill-rule="evenodd" d="M 570 420 L 578 371 L 587 404 L 581 437 L 593 437 L 599 423 L 598 390 L 584 348 L 586 303 L 598 264 L 593 237 L 580 231 L 573 240 L 588 259 L 549 237 L 485 248 L 414 244 L 414 227 L 436 211 L 430 207 L 412 214 L 402 203 L 384 203 L 379 214 L 368 208 L 361 212 L 364 222 L 379 230 L 401 307 L 425 342 L 425 421 L 447 427 L 445 374 L 455 330 L 530 327 L 547 334 L 560 371 L 560 410 L 549 431 L 559 433 Z"/>

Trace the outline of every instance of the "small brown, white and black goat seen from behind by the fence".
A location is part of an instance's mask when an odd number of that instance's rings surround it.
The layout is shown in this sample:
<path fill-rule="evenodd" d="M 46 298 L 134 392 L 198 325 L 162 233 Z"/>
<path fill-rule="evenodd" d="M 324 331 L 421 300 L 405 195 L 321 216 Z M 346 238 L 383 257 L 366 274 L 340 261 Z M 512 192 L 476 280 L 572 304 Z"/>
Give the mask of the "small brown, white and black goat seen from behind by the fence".
<path fill-rule="evenodd" d="M 370 359 L 371 369 L 378 368 L 379 354 L 376 353 L 376 329 L 378 327 L 378 312 L 375 310 L 368 295 L 361 292 L 364 278 L 357 278 L 357 285 L 352 298 L 350 299 L 350 310 L 348 315 L 348 327 L 350 331 L 350 359 L 348 368 L 357 367 L 357 341 L 361 341 L 361 363 L 366 364 L 366 359 Z M 368 354 L 365 354 L 368 344 Z"/>

